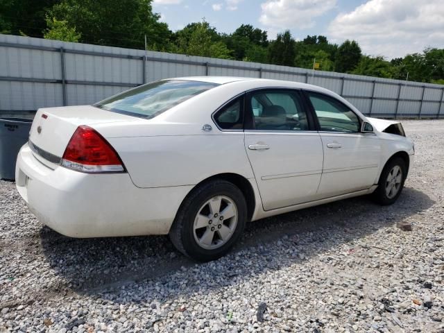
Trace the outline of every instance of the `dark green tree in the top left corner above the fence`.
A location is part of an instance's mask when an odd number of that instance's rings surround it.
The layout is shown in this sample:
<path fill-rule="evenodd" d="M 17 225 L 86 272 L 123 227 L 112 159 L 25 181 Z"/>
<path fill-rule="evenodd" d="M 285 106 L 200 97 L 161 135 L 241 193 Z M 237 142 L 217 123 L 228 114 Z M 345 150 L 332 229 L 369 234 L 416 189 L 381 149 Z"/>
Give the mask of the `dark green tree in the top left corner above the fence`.
<path fill-rule="evenodd" d="M 46 10 L 60 0 L 0 0 L 0 33 L 43 37 Z"/>

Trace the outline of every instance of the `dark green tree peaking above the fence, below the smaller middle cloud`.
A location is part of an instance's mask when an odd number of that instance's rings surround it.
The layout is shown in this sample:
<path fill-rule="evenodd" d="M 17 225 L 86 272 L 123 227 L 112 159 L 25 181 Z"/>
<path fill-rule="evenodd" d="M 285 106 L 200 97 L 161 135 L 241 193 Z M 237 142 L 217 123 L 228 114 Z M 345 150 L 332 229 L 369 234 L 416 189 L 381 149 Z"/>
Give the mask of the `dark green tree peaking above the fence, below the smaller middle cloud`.
<path fill-rule="evenodd" d="M 295 54 L 295 40 L 288 30 L 268 46 L 268 61 L 273 65 L 294 66 Z"/>

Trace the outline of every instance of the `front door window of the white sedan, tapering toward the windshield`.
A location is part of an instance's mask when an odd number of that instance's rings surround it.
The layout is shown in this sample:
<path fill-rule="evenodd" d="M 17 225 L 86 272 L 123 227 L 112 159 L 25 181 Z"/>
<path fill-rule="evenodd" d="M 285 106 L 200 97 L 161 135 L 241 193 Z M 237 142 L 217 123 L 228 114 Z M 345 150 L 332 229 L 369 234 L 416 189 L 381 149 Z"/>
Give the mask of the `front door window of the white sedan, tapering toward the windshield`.
<path fill-rule="evenodd" d="M 343 103 L 316 92 L 307 92 L 307 94 L 318 117 L 321 130 L 350 133 L 360 131 L 361 123 L 358 116 Z"/>

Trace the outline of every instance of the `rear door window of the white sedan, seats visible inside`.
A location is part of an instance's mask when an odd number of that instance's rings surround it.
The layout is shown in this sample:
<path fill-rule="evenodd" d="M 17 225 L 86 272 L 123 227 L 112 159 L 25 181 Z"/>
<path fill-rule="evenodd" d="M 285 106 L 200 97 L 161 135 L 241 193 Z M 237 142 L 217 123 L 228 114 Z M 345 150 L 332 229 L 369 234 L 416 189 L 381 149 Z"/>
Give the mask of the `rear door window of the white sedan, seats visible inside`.
<path fill-rule="evenodd" d="M 298 94 L 287 90 L 259 90 L 248 94 L 246 108 L 255 130 L 309 130 Z"/>

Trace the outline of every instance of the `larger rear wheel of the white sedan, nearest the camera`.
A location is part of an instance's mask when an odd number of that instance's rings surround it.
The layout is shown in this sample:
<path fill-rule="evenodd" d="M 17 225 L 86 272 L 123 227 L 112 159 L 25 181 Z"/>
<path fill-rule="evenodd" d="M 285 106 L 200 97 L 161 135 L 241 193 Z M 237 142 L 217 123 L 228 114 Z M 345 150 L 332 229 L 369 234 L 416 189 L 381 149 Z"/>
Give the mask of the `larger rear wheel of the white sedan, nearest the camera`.
<path fill-rule="evenodd" d="M 212 180 L 185 198 L 169 237 L 187 257 L 209 262 L 228 253 L 241 237 L 246 219 L 247 205 L 241 190 L 231 182 Z"/>

